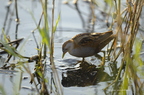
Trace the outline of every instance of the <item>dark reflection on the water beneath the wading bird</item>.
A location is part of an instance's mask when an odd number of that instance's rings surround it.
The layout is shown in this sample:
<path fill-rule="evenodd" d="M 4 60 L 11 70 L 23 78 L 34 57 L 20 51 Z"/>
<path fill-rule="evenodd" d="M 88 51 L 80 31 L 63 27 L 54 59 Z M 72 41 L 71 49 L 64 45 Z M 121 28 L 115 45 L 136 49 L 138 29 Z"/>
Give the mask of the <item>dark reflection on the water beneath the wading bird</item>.
<path fill-rule="evenodd" d="M 62 73 L 62 85 L 64 87 L 71 86 L 90 86 L 96 85 L 99 82 L 111 80 L 112 77 L 104 72 L 104 68 L 96 68 L 95 65 L 83 62 L 80 64 L 80 69 L 71 70 Z"/>

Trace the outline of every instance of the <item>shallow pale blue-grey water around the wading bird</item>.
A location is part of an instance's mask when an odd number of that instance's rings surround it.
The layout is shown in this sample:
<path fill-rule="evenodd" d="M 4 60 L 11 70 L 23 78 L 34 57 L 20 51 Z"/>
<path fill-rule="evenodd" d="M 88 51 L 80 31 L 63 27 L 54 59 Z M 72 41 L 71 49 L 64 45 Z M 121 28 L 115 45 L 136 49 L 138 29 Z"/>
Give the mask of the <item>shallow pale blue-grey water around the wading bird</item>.
<path fill-rule="evenodd" d="M 0 28 L 3 27 L 4 19 L 6 17 L 6 5 L 8 1 L 1 0 L 0 1 Z M 62 89 L 64 95 L 110 95 L 114 90 L 108 89 L 107 92 L 104 92 L 104 88 L 107 87 L 109 83 L 111 83 L 117 75 L 118 67 L 120 64 L 116 65 L 110 61 L 107 61 L 105 67 L 103 69 L 97 68 L 101 64 L 101 59 L 97 57 L 89 57 L 86 58 L 88 63 L 81 65 L 78 61 L 81 61 L 81 58 L 73 57 L 69 54 L 65 55 L 65 58 L 62 59 L 62 51 L 61 46 L 63 42 L 75 36 L 76 34 L 87 32 L 88 29 L 88 21 L 89 16 L 91 15 L 89 10 L 89 5 L 87 2 L 80 1 L 79 7 L 81 12 L 83 13 L 85 26 L 83 27 L 83 22 L 79 17 L 78 12 L 75 10 L 75 6 L 72 2 L 70 2 L 70 6 L 63 4 L 63 1 L 59 0 L 56 2 L 55 7 L 55 17 L 57 18 L 59 13 L 61 14 L 61 21 L 59 22 L 59 26 L 55 33 L 55 48 L 54 48 L 54 61 L 59 74 L 59 78 L 61 81 Z M 14 3 L 14 2 L 13 2 Z M 12 22 L 10 28 L 8 28 L 9 22 L 6 24 L 6 30 L 9 29 L 7 34 L 10 36 L 12 40 L 15 39 L 15 27 L 16 22 L 15 19 L 15 11 L 14 4 L 11 5 L 11 14 L 9 15 L 8 21 L 12 18 Z M 101 5 L 104 6 L 102 2 Z M 48 4 L 49 7 L 49 18 L 51 19 L 51 3 Z M 34 41 L 34 37 L 32 35 L 32 30 L 36 28 L 34 20 L 32 19 L 32 14 L 34 15 L 36 22 L 38 23 L 40 15 L 41 15 L 41 5 L 39 1 L 35 0 L 19 0 L 18 1 L 18 12 L 20 18 L 20 25 L 18 27 L 18 38 L 24 38 L 24 41 L 18 48 L 18 52 L 24 56 L 31 57 L 37 54 L 36 43 Z M 96 9 L 95 11 L 97 15 L 97 21 L 95 23 L 94 32 L 105 32 L 108 27 L 104 22 L 105 17 L 101 14 L 100 9 Z M 91 27 L 91 26 L 90 26 Z M 41 42 L 41 37 L 38 31 L 35 31 L 34 35 L 38 43 Z M 103 53 L 100 53 L 103 56 Z M 1 63 L 4 63 L 4 57 L 6 55 L 2 55 Z M 49 57 L 49 54 L 48 54 Z M 46 76 L 49 78 L 51 82 L 51 74 L 52 71 L 49 65 L 49 58 L 47 58 L 47 74 Z M 15 61 L 11 60 L 10 63 L 15 63 Z M 8 63 L 8 64 L 10 64 Z M 2 66 L 3 64 L 1 64 Z M 29 63 L 29 68 L 31 72 L 34 72 L 35 63 Z M 0 85 L 4 87 L 7 92 L 7 95 L 11 95 L 15 92 L 18 92 L 20 88 L 20 95 L 35 95 L 36 90 L 34 84 L 30 84 L 30 76 L 29 74 L 22 70 L 16 69 L 14 71 L 0 70 Z M 19 78 L 22 76 L 22 84 L 18 85 Z M 50 85 L 50 83 L 49 83 Z M 48 85 L 48 86 L 49 86 Z M 13 90 L 14 89 L 14 90 Z M 127 91 L 130 95 L 131 91 Z"/>

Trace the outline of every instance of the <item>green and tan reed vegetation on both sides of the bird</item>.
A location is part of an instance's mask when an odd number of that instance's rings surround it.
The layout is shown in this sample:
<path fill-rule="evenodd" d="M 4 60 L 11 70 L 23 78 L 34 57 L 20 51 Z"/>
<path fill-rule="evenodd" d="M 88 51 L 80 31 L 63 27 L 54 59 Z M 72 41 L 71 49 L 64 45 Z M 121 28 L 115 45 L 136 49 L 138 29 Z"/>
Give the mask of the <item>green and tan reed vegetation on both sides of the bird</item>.
<path fill-rule="evenodd" d="M 54 63 L 54 35 L 60 21 L 60 13 L 55 19 L 55 0 L 52 0 L 52 9 L 51 13 L 51 23 L 49 23 L 48 18 L 48 1 L 49 0 L 40 0 L 40 4 L 42 7 L 41 17 L 39 18 L 39 22 L 36 22 L 35 16 L 32 12 L 29 12 L 32 16 L 32 19 L 35 21 L 36 29 L 32 31 L 32 34 L 35 35 L 35 31 L 39 31 L 42 42 L 40 44 L 37 43 L 37 40 L 34 36 L 35 43 L 37 45 L 37 54 L 32 57 L 26 57 L 20 54 L 17 50 L 21 40 L 17 39 L 17 35 L 15 36 L 16 40 L 11 41 L 8 37 L 8 32 L 6 31 L 6 23 L 4 23 L 4 27 L 2 29 L 2 39 L 0 40 L 0 49 L 3 52 L 7 53 L 9 56 L 7 57 L 6 62 L 8 63 L 12 57 L 17 58 L 19 61 L 16 64 L 4 64 L 1 69 L 4 70 L 19 70 L 23 72 L 23 69 L 29 74 L 31 77 L 30 83 L 35 85 L 35 89 L 40 95 L 50 95 L 51 93 L 55 95 L 63 95 L 63 89 L 61 86 L 60 78 L 58 76 L 58 71 L 55 67 Z M 11 4 L 14 2 L 15 11 L 16 11 L 16 31 L 18 32 L 18 26 L 20 23 L 20 16 L 18 14 L 18 4 L 17 0 L 9 1 L 9 5 L 7 6 L 7 11 L 11 8 Z M 117 72 L 114 72 L 115 79 L 108 84 L 103 90 L 105 94 L 110 95 L 128 95 L 129 91 L 134 95 L 143 95 L 144 94 L 144 85 L 142 78 L 144 78 L 144 74 L 142 71 L 143 61 L 141 57 L 142 50 L 142 40 L 138 39 L 136 36 L 140 30 L 140 16 L 142 13 L 142 8 L 144 5 L 144 0 L 125 0 L 125 6 L 122 6 L 123 3 L 121 0 L 104 0 L 106 6 L 108 8 L 108 12 L 103 11 L 106 14 L 106 23 L 108 25 L 109 30 L 113 30 L 116 38 L 114 39 L 110 50 L 108 51 L 108 57 L 111 62 L 110 65 L 120 64 Z M 68 4 L 69 2 L 65 2 Z M 95 20 L 97 19 L 94 14 L 95 6 L 97 5 L 98 0 L 91 0 L 89 5 L 91 6 L 92 11 L 92 28 L 89 31 L 94 31 Z M 78 10 L 78 0 L 75 0 L 74 5 Z M 79 15 L 82 17 L 82 15 Z M 7 22 L 7 16 L 5 17 L 5 22 Z M 81 18 L 83 20 L 83 18 Z M 83 23 L 83 27 L 85 24 Z M 118 47 L 118 43 L 120 47 Z M 47 56 L 50 59 L 50 68 L 52 70 L 52 83 L 50 83 L 50 78 L 46 76 L 46 64 L 47 64 Z M 118 60 L 118 58 L 121 58 Z M 105 62 L 106 56 L 104 56 Z M 12 59 L 11 59 L 12 60 Z M 26 61 L 25 61 L 26 60 Z M 44 60 L 44 61 L 43 61 Z M 29 67 L 29 62 L 35 62 L 34 73 L 31 72 Z M 120 62 L 118 62 L 120 61 Z M 93 69 L 95 66 L 91 66 Z M 83 67 L 85 68 L 85 67 Z M 90 68 L 90 69 L 92 69 Z M 103 71 L 103 68 L 100 69 Z M 87 71 L 87 68 L 85 68 Z M 112 70 L 114 71 L 114 70 Z M 105 74 L 105 73 L 104 73 Z M 107 76 L 107 74 L 105 74 Z M 103 78 L 102 78 L 103 79 Z M 20 91 L 20 86 L 22 82 L 22 74 L 19 78 L 19 83 L 16 86 L 17 90 Z M 40 85 L 40 87 L 38 86 Z M 19 91 L 14 90 L 15 94 L 19 94 Z M 6 95 L 6 90 L 2 85 L 0 85 L 0 93 L 2 95 Z"/>

